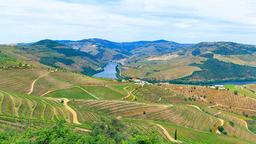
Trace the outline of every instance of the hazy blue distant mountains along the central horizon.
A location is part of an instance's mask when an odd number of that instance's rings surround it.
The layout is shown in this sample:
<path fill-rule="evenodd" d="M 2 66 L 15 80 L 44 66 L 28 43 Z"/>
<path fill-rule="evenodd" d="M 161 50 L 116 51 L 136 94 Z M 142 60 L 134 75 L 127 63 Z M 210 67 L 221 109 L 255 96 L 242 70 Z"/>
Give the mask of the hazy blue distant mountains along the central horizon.
<path fill-rule="evenodd" d="M 190 46 L 190 44 L 179 44 L 166 40 L 116 43 L 99 38 L 90 38 L 79 41 L 58 42 L 81 52 L 91 53 L 91 55 L 95 55 L 102 60 L 118 60 L 130 58 L 130 56 L 159 56 Z"/>

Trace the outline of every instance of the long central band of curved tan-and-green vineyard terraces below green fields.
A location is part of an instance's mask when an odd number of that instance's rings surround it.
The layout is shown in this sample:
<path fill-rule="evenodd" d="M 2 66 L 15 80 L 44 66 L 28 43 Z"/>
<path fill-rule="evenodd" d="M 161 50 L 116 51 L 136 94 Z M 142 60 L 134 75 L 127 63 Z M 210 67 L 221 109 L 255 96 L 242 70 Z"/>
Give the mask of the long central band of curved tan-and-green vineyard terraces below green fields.
<path fill-rule="evenodd" d="M 72 103 L 72 106 L 78 112 L 90 111 L 102 116 L 112 115 L 129 119 L 171 122 L 201 131 L 209 131 L 218 122 L 215 116 L 208 115 L 191 106 L 158 106 L 121 101 L 76 101 Z M 86 116 L 81 117 L 84 118 L 84 122 L 88 119 Z"/>

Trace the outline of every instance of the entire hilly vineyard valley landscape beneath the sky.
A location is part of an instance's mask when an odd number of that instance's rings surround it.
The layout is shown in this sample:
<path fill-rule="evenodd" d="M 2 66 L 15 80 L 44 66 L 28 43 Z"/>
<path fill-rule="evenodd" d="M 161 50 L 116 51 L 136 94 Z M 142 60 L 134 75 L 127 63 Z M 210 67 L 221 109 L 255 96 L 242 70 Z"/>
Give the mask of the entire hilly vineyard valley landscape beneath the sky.
<path fill-rule="evenodd" d="M 254 46 L 163 40 L 58 42 L 0 46 L 1 134 L 50 133 L 61 131 L 59 127 L 88 143 L 139 143 L 141 137 L 159 143 L 256 143 L 255 83 L 192 85 L 254 80 Z M 88 53 L 81 52 L 85 50 Z M 123 58 L 119 66 L 103 71 L 107 74 L 99 73 L 107 62 Z M 121 73 L 115 74 L 116 68 Z M 110 77 L 109 71 L 120 79 Z M 91 77 L 96 72 L 102 75 Z M 24 133 L 17 136 L 35 142 Z"/>

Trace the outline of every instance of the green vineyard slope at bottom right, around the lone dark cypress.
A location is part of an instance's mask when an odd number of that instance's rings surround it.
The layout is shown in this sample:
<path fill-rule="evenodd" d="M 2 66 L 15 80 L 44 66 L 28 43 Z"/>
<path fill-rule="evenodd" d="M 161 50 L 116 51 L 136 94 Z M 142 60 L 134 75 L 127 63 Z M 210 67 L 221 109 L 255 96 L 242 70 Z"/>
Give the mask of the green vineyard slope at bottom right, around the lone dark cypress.
<path fill-rule="evenodd" d="M 193 130 L 191 128 L 182 127 L 179 125 L 169 124 L 165 122 L 148 122 L 135 119 L 123 119 L 125 122 L 130 122 L 130 127 L 135 127 L 139 131 L 142 131 L 145 134 L 150 133 L 152 130 L 158 131 L 158 135 L 162 136 L 163 139 L 166 139 L 166 136 L 163 136 L 163 130 L 159 130 L 159 127 L 156 124 L 162 125 L 165 130 L 168 131 L 169 136 L 174 138 L 175 130 L 177 130 L 177 140 L 180 142 L 189 142 L 189 143 L 253 143 L 248 140 L 239 139 L 233 136 L 225 136 L 223 134 L 215 133 L 204 133 L 201 131 Z"/>

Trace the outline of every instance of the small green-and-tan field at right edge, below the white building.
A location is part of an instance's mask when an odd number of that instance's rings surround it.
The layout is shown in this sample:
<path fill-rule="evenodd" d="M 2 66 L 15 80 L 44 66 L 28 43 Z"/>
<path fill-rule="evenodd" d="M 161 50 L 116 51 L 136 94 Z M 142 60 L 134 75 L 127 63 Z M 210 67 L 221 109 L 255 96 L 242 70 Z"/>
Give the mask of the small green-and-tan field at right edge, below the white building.
<path fill-rule="evenodd" d="M 256 85 L 256 84 L 252 84 L 252 85 Z M 249 87 L 246 87 L 245 85 L 242 86 L 236 86 L 236 85 L 224 85 L 225 88 L 230 89 L 230 91 L 237 91 L 239 94 L 241 95 L 246 95 L 246 97 L 251 97 L 251 98 L 256 98 L 256 94 L 255 92 L 250 91 Z"/>

